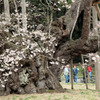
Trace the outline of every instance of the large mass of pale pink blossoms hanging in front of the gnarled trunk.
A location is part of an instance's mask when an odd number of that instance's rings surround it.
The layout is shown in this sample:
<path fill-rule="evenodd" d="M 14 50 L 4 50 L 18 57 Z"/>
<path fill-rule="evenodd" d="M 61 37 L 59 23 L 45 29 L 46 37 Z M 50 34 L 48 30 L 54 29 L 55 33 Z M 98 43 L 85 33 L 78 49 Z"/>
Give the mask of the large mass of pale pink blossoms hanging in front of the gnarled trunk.
<path fill-rule="evenodd" d="M 3 28 L 3 26 L 7 25 L 3 21 L 1 24 L 1 32 L 5 31 L 7 34 L 11 34 L 9 31 L 11 27 Z M 12 47 L 5 49 L 0 55 L 0 83 L 2 87 L 5 87 L 8 77 L 23 66 L 19 65 L 20 60 L 25 58 L 33 59 L 38 54 L 53 58 L 54 47 L 57 46 L 56 37 L 48 35 L 46 32 L 44 33 L 41 30 L 25 32 L 21 28 L 17 32 L 16 28 L 14 26 L 15 31 L 12 32 L 12 35 L 3 40 L 5 43 L 11 43 Z M 58 62 L 51 64 L 58 64 Z"/>

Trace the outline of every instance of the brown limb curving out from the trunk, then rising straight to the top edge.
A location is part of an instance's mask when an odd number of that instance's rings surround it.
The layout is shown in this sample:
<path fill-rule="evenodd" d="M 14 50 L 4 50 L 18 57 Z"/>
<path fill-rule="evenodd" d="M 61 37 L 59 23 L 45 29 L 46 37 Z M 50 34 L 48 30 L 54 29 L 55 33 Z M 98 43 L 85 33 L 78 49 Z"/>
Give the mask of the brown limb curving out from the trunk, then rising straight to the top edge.
<path fill-rule="evenodd" d="M 70 55 L 71 51 L 77 51 L 81 49 L 86 41 L 88 40 L 88 35 L 90 32 L 90 11 L 91 11 L 92 0 L 87 0 L 84 5 L 84 20 L 82 28 L 82 36 L 80 39 L 75 41 L 66 42 L 61 45 L 55 53 L 55 57 L 61 57 L 63 55 Z M 68 44 L 68 45 L 67 45 Z"/>

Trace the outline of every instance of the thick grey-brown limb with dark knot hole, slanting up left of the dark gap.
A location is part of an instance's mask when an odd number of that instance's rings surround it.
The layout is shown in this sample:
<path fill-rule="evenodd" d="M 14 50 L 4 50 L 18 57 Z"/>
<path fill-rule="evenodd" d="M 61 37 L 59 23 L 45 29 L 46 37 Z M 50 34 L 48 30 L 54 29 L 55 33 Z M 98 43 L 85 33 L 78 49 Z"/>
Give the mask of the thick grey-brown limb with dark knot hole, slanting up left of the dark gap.
<path fill-rule="evenodd" d="M 78 16 L 84 10 L 84 4 L 84 0 L 77 0 L 64 16 L 52 23 L 51 33 L 57 34 L 57 41 L 60 41 L 62 37 L 69 36 L 73 32 Z"/>

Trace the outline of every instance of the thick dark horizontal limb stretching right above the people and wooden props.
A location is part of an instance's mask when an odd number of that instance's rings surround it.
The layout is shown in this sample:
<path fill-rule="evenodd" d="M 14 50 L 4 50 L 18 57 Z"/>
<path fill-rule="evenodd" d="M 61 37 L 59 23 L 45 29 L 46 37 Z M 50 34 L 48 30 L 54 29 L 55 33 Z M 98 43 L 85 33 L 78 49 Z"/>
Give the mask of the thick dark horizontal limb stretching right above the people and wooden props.
<path fill-rule="evenodd" d="M 62 46 L 59 47 L 59 49 L 56 51 L 55 57 L 60 57 L 61 59 L 67 59 L 68 56 L 78 56 L 80 54 L 86 54 L 86 53 L 92 53 L 96 52 L 98 50 L 98 41 L 97 39 L 94 40 L 87 40 L 83 46 L 81 46 L 80 39 L 73 40 L 66 42 Z M 77 44 L 77 47 L 76 47 Z"/>

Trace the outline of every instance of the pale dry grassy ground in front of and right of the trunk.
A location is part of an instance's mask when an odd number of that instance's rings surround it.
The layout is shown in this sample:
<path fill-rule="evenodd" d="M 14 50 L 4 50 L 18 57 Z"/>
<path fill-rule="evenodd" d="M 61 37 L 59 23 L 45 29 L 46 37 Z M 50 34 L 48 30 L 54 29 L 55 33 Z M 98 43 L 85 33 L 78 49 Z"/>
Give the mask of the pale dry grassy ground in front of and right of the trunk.
<path fill-rule="evenodd" d="M 100 91 L 95 90 L 95 85 L 89 83 L 89 89 L 83 83 L 74 83 L 74 90 L 71 90 L 70 83 L 61 83 L 67 88 L 65 93 L 43 93 L 28 95 L 0 96 L 0 100 L 100 100 Z"/>

